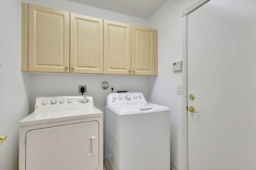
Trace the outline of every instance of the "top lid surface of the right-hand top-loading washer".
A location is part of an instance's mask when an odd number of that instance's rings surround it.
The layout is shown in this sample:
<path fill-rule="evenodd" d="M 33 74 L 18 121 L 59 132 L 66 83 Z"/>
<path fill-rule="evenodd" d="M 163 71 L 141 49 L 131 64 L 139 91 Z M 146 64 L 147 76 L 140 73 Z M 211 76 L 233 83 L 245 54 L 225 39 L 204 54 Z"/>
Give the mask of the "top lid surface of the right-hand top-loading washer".
<path fill-rule="evenodd" d="M 120 116 L 170 111 L 170 109 L 166 106 L 161 106 L 158 104 L 152 104 L 148 102 L 130 103 L 130 104 L 114 104 L 112 106 L 109 106 L 109 109 L 111 109 L 112 111 L 114 111 L 116 114 Z"/>

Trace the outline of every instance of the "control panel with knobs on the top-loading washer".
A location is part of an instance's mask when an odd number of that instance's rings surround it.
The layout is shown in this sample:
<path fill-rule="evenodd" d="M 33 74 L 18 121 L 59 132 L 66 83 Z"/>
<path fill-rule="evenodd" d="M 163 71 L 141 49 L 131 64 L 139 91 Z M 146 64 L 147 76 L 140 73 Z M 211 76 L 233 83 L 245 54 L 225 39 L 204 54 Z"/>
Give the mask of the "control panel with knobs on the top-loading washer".
<path fill-rule="evenodd" d="M 144 96 L 140 92 L 111 93 L 108 95 L 108 103 L 126 104 L 146 102 Z"/>

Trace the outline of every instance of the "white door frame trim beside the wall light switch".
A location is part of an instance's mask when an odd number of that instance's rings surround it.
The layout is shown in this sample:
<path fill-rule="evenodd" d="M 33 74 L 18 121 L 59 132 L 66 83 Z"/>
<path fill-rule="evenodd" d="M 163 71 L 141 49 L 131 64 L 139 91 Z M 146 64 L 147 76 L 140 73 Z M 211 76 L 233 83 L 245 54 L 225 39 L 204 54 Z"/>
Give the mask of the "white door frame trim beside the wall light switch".
<path fill-rule="evenodd" d="M 183 17 L 183 72 L 182 72 L 182 170 L 188 170 L 188 14 L 199 8 L 200 6 L 204 5 L 206 2 L 210 0 L 199 0 L 186 10 L 182 11 Z"/>

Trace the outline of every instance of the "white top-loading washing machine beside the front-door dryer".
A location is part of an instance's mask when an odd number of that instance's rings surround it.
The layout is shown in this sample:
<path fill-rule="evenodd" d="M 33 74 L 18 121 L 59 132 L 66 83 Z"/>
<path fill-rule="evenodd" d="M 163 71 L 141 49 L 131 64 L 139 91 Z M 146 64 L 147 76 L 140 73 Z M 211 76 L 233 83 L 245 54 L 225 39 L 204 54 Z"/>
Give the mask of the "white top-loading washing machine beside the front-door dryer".
<path fill-rule="evenodd" d="M 170 109 L 142 93 L 109 94 L 105 109 L 107 170 L 170 170 Z"/>

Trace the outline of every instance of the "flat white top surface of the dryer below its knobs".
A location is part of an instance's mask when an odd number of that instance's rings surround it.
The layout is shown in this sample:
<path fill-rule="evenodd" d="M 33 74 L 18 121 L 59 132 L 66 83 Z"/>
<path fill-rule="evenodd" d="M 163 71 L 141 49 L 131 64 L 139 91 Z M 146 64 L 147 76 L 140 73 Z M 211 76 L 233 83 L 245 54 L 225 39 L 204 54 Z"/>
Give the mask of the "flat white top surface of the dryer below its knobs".
<path fill-rule="evenodd" d="M 20 127 L 99 116 L 102 111 L 93 105 L 36 109 L 20 121 Z"/>

